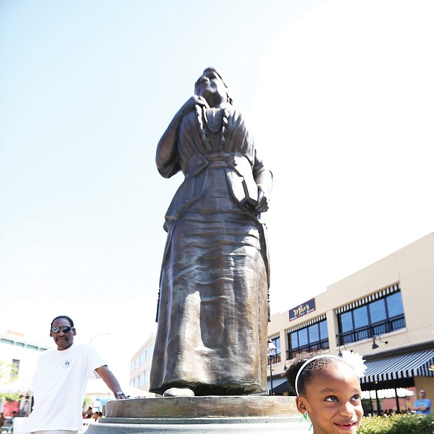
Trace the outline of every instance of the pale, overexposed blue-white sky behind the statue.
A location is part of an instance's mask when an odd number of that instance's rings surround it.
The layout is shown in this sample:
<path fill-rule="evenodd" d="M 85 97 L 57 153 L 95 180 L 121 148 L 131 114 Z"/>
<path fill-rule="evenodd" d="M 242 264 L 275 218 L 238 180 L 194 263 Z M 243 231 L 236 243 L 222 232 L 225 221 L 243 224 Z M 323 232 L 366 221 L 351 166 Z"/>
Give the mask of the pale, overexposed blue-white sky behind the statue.
<path fill-rule="evenodd" d="M 418 0 L 0 0 L 0 332 L 51 344 L 69 315 L 127 381 L 182 181 L 155 148 L 207 66 L 274 173 L 272 313 L 432 232 L 433 22 Z"/>

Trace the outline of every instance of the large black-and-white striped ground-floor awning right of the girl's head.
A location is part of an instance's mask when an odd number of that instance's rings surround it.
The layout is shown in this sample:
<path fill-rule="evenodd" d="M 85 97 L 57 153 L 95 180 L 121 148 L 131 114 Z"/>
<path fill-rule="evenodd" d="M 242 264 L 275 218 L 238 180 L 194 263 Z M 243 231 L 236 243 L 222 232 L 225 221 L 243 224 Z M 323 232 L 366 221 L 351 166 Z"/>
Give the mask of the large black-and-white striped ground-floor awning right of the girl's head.
<path fill-rule="evenodd" d="M 434 349 L 374 358 L 367 360 L 366 365 L 365 377 L 360 379 L 362 384 L 413 377 L 434 377 L 434 371 L 430 370 L 431 365 L 434 365 Z"/>

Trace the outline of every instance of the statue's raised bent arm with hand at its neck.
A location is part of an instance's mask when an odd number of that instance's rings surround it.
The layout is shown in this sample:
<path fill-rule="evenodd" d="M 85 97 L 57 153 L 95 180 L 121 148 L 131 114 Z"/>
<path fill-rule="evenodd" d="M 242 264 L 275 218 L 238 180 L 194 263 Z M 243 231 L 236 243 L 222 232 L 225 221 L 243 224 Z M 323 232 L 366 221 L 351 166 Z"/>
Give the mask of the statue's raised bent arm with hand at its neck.
<path fill-rule="evenodd" d="M 162 135 L 157 146 L 157 155 L 155 156 L 155 162 L 157 163 L 158 172 L 165 178 L 170 178 L 174 174 L 178 173 L 181 167 L 178 160 L 177 139 L 179 125 L 183 116 L 192 111 L 196 105 L 208 107 L 207 102 L 197 95 L 193 95 L 186 104 L 184 104 L 178 113 L 169 123 L 169 127 Z"/>

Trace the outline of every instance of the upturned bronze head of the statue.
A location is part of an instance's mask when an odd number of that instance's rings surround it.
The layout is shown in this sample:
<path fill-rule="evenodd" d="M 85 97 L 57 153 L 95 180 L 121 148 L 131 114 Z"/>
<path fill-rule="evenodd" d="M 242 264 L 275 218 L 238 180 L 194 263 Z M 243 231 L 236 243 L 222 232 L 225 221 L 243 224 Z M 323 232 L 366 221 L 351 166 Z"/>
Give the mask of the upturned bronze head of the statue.
<path fill-rule="evenodd" d="M 195 94 L 207 100 L 209 106 L 218 107 L 232 104 L 228 86 L 221 73 L 214 68 L 207 68 L 195 83 Z"/>

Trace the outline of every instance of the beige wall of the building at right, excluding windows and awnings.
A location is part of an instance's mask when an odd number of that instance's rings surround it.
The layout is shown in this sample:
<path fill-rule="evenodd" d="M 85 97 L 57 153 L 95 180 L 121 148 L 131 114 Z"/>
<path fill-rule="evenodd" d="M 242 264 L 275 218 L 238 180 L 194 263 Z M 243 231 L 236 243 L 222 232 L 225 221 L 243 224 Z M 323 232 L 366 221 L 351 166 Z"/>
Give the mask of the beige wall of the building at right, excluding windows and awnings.
<path fill-rule="evenodd" d="M 379 344 L 377 349 L 372 349 L 372 338 L 347 344 L 346 348 L 365 356 L 373 353 L 378 355 L 382 351 L 424 342 L 432 342 L 434 349 L 434 232 L 431 232 L 409 246 L 328 286 L 325 293 L 315 297 L 315 311 L 293 321 L 289 321 L 289 311 L 273 315 L 269 323 L 268 335 L 280 333 L 281 340 L 281 363 L 273 365 L 274 376 L 283 372 L 285 365 L 286 350 L 288 350 L 286 330 L 326 314 L 329 351 L 337 354 L 339 330 L 335 309 L 367 295 L 378 293 L 396 283 L 400 285 L 406 327 L 381 335 L 381 339 L 388 344 L 377 339 Z M 288 300 L 288 309 L 292 308 Z M 434 399 L 433 378 L 420 377 L 415 381 L 416 388 L 425 388 L 428 397 Z"/>

